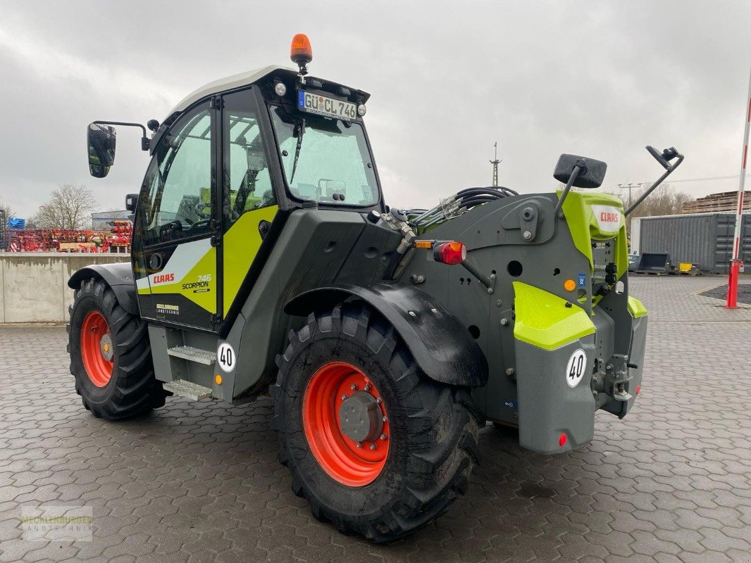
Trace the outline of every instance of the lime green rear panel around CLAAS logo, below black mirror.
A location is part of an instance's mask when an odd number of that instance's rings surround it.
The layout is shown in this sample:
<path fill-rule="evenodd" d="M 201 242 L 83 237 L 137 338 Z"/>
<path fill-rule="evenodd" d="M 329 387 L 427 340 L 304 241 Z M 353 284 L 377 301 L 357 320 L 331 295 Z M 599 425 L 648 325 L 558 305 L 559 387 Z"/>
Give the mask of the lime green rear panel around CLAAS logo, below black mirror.
<path fill-rule="evenodd" d="M 557 192 L 558 195 L 562 191 Z M 599 226 L 599 221 L 593 211 L 593 205 L 611 206 L 620 209 L 620 226 L 617 230 L 605 231 Z M 616 239 L 615 257 L 617 264 L 617 278 L 629 269 L 629 250 L 626 239 L 626 221 L 623 218 L 623 202 L 617 196 L 610 194 L 586 194 L 570 191 L 562 206 L 563 215 L 569 226 L 574 245 L 590 261 L 591 272 L 594 272 L 592 256 L 592 241 Z"/>

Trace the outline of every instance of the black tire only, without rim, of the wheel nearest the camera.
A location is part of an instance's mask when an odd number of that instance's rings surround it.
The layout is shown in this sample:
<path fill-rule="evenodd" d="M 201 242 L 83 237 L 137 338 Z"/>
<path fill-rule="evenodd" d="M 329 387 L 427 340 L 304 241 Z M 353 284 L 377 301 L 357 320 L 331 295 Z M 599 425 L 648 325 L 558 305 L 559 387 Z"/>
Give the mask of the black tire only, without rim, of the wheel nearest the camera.
<path fill-rule="evenodd" d="M 279 375 L 270 389 L 273 428 L 279 432 L 279 459 L 292 472 L 292 490 L 309 501 L 316 518 L 381 543 L 427 525 L 466 492 L 478 462 L 480 423 L 469 388 L 427 378 L 391 324 L 363 304 L 310 315 L 289 340 L 277 357 Z M 388 405 L 388 457 L 365 486 L 330 477 L 303 429 L 306 385 L 332 361 L 360 369 Z"/>

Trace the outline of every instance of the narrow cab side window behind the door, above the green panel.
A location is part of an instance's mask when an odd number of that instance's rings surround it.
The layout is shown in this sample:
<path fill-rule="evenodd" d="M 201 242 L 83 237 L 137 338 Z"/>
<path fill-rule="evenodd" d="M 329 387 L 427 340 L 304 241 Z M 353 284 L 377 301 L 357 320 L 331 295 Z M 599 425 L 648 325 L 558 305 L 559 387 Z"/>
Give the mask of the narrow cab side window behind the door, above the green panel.
<path fill-rule="evenodd" d="M 228 104 L 230 105 L 230 104 Z M 225 107 L 225 225 L 243 213 L 276 205 L 255 112 Z"/>

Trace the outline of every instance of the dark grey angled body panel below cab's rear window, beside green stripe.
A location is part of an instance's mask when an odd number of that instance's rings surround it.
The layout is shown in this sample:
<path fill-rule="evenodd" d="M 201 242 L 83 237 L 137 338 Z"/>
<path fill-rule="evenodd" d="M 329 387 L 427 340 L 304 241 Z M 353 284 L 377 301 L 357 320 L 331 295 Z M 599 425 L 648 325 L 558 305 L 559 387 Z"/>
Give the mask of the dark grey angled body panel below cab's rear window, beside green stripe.
<path fill-rule="evenodd" d="M 288 330 L 304 321 L 283 314 L 285 303 L 333 284 L 340 274 L 352 279 L 348 261 L 357 263 L 360 283 L 381 277 L 399 238 L 357 212 L 292 212 L 226 339 L 238 355 L 234 396 L 265 391 L 276 374 L 276 354 L 284 351 Z"/>

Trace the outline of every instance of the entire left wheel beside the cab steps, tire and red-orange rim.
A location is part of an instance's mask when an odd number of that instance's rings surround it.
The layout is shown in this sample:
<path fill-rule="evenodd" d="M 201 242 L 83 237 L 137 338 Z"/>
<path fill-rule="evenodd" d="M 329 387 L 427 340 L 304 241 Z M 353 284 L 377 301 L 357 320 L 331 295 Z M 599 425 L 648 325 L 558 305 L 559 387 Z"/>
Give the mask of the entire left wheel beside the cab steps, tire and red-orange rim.
<path fill-rule="evenodd" d="M 82 281 L 69 312 L 71 374 L 84 407 L 116 420 L 164 405 L 146 323 L 125 311 L 104 281 Z"/>

